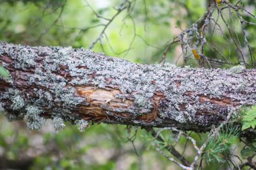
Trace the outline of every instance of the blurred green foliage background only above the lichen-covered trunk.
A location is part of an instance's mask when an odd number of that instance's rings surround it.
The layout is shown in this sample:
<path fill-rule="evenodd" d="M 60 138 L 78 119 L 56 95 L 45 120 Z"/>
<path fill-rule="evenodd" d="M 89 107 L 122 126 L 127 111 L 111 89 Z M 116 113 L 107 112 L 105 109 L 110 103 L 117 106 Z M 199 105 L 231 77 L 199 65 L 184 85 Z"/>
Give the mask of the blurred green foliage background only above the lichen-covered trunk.
<path fill-rule="evenodd" d="M 8 3 L 7 3 L 8 2 Z M 26 3 L 24 3 L 26 2 Z M 107 24 L 108 20 L 97 17 L 102 15 L 111 19 L 115 15 L 120 1 L 90 1 L 92 9 L 86 1 L 0 1 L 0 38 L 3 41 L 48 46 L 73 46 L 75 48 L 89 48 Z M 253 2 L 245 1 L 244 5 Z M 255 3 L 254 3 L 255 4 Z M 110 56 L 119 56 L 132 62 L 154 63 L 158 62 L 168 42 L 177 36 L 193 22 L 197 21 L 205 12 L 206 1 L 144 1 L 135 3 L 127 15 L 122 11 L 106 29 L 106 34 L 101 38 L 93 50 L 105 52 Z M 95 12 L 95 13 L 94 13 Z M 254 11 L 255 12 L 255 11 Z M 217 11 L 214 13 L 216 18 Z M 244 38 L 235 16 L 226 14 L 228 24 L 234 24 L 241 47 L 245 48 Z M 245 15 L 248 22 L 256 19 Z M 220 20 L 220 19 L 219 19 Z M 223 56 L 210 46 L 205 45 L 205 56 L 222 60 L 238 62 L 238 52 L 232 44 L 228 30 L 220 21 L 224 35 L 214 24 L 210 25 L 207 41 L 218 49 Z M 230 25 L 231 26 L 231 25 Z M 230 27 L 232 28 L 232 26 Z M 255 53 L 254 27 L 247 24 L 248 40 Z M 228 41 L 226 41 L 228 40 Z M 226 48 L 228 46 L 229 48 Z M 244 47 L 243 47 L 244 46 Z M 174 44 L 168 52 L 167 61 L 177 62 L 181 65 L 178 44 Z M 249 58 L 248 58 L 249 60 Z M 239 59 L 240 61 L 240 59 Z M 191 58 L 188 65 L 196 66 Z M 218 65 L 216 66 L 218 67 Z M 230 67 L 227 65 L 227 67 Z"/>

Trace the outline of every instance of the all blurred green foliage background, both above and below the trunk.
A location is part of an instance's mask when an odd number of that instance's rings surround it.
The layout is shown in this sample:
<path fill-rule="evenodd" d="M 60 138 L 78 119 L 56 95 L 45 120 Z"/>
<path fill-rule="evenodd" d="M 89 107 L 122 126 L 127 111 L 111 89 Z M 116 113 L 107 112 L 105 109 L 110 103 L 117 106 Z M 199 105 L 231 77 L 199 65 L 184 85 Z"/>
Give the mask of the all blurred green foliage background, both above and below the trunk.
<path fill-rule="evenodd" d="M 91 5 L 91 8 L 88 6 Z M 74 48 L 89 48 L 100 36 L 104 28 L 102 24 L 108 20 L 97 17 L 95 13 L 111 19 L 121 1 L 82 1 L 82 0 L 0 0 L 0 40 L 15 44 L 30 44 L 34 46 L 73 46 Z M 249 9 L 255 12 L 255 1 L 244 1 Z M 127 15 L 122 11 L 106 29 L 106 34 L 92 50 L 104 52 L 109 56 L 118 56 L 132 62 L 158 62 L 174 36 L 179 35 L 205 13 L 206 1 L 201 0 L 148 0 L 136 1 Z M 213 17 L 218 17 L 217 11 Z M 226 13 L 232 33 L 241 41 L 241 48 L 248 50 L 237 18 Z M 249 15 L 244 16 L 247 22 L 256 22 Z M 230 34 L 223 22 L 219 23 L 224 34 L 211 24 L 207 41 L 215 46 L 230 62 L 238 62 L 238 52 L 230 40 Z M 247 24 L 247 38 L 255 53 L 255 27 Z M 205 46 L 205 56 L 224 60 L 218 51 Z M 248 55 L 248 60 L 250 60 Z M 179 60 L 179 62 L 177 62 Z M 178 44 L 174 44 L 168 52 L 167 61 L 182 65 L 183 59 Z M 187 65 L 197 67 L 193 57 Z M 230 67 L 225 65 L 224 67 Z M 219 67 L 219 65 L 214 65 Z M 223 67 L 223 66 L 222 66 Z M 0 67 L 0 75 L 8 73 Z M 228 155 L 230 148 L 237 143 L 236 128 L 222 130 L 218 138 L 214 138 L 207 146 L 207 162 L 205 169 L 225 169 L 222 155 Z M 126 126 L 98 124 L 81 133 L 71 124 L 61 132 L 54 132 L 51 123 L 46 124 L 41 131 L 28 130 L 24 122 L 6 122 L 0 120 L 0 153 L 8 160 L 32 159 L 29 169 L 179 169 L 158 153 L 147 150 L 147 146 L 175 146 L 181 153 L 193 161 L 195 151 L 193 145 L 187 144 L 187 138 L 181 137 L 175 142 L 170 132 L 160 135 L 164 142 L 155 140 L 146 130 L 137 130 L 135 153 L 131 142 L 135 129 Z M 231 132 L 231 133 L 230 133 Z M 207 134 L 191 136 L 201 146 Z M 226 141 L 225 144 L 223 142 Z M 215 148 L 213 152 L 210 152 Z M 255 150 L 255 143 L 245 146 L 242 154 L 246 157 Z M 238 149 L 238 153 L 242 149 Z M 216 157 L 219 155 L 220 157 Z M 216 164 L 217 162 L 220 162 Z"/>

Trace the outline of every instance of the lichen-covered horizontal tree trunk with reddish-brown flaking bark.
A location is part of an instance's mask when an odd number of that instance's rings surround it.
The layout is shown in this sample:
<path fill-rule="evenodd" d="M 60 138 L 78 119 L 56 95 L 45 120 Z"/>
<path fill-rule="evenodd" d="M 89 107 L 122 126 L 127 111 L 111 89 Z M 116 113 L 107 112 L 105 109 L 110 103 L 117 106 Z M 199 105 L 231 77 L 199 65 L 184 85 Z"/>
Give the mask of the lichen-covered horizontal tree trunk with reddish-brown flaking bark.
<path fill-rule="evenodd" d="M 256 70 L 139 65 L 90 50 L 0 42 L 0 110 L 38 129 L 45 118 L 203 132 L 256 103 Z M 81 122 L 82 121 L 82 122 Z M 84 121 L 85 122 L 85 121 Z"/>

